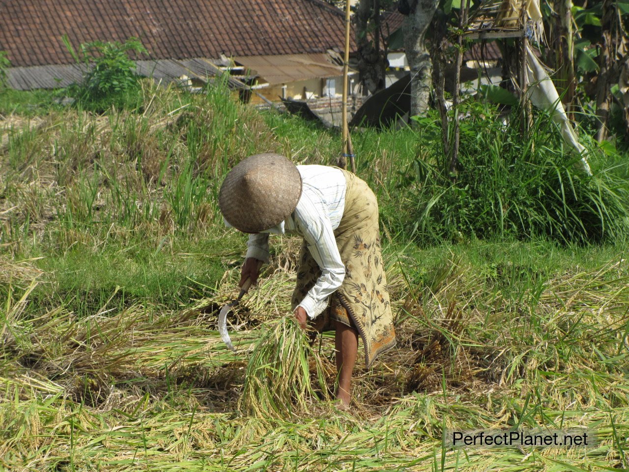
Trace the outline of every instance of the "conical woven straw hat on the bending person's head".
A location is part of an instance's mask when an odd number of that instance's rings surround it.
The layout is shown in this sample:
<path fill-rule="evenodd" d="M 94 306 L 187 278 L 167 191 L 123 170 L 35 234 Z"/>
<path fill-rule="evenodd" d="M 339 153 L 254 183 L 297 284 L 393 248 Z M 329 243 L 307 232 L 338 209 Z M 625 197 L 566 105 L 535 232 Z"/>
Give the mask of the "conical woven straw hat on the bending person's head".
<path fill-rule="evenodd" d="M 245 233 L 259 233 L 286 220 L 301 196 L 295 164 L 267 152 L 242 160 L 225 177 L 218 205 L 225 220 Z"/>

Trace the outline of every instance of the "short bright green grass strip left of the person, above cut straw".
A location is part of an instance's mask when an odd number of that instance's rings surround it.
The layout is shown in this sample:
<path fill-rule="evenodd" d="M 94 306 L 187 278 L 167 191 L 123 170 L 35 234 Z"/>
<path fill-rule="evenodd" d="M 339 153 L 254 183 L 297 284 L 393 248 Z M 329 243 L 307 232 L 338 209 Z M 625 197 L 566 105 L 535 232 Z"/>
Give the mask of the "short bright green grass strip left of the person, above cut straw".
<path fill-rule="evenodd" d="M 80 245 L 62 254 L 42 254 L 38 267 L 53 274 L 54 283 L 38 286 L 31 300 L 83 317 L 99 310 L 118 287 L 118 304 L 109 303 L 110 309 L 138 302 L 174 309 L 211 295 L 225 273 L 218 257 L 236 259 L 240 253 L 234 247 L 242 244 L 243 237 L 225 232 L 201 241 L 164 236 L 131 240 L 123 249 Z"/>

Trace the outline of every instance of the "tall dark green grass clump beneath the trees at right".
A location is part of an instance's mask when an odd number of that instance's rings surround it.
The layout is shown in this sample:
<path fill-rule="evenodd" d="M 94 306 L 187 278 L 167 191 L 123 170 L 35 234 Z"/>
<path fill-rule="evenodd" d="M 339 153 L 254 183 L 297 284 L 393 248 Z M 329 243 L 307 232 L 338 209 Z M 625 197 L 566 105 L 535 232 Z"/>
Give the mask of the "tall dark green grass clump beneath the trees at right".
<path fill-rule="evenodd" d="M 603 167 L 591 152 L 594 176 L 584 174 L 548 115 L 538 114 L 522 137 L 518 120 L 505 125 L 493 108 L 472 103 L 466 111 L 456 175 L 443 155 L 437 116 L 417 120 L 429 144 L 402 183 L 412 188 L 406 229 L 416 237 L 542 237 L 582 244 L 629 234 L 629 185 L 619 169 Z"/>

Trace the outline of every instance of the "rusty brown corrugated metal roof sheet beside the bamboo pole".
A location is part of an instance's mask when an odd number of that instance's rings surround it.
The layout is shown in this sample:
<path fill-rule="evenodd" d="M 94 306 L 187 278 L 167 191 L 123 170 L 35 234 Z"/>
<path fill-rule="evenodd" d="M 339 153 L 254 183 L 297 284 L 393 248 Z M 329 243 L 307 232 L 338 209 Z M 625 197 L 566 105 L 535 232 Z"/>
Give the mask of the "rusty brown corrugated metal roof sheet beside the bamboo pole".
<path fill-rule="evenodd" d="M 269 84 L 343 75 L 343 67 L 334 64 L 327 54 L 237 56 L 234 60 Z"/>

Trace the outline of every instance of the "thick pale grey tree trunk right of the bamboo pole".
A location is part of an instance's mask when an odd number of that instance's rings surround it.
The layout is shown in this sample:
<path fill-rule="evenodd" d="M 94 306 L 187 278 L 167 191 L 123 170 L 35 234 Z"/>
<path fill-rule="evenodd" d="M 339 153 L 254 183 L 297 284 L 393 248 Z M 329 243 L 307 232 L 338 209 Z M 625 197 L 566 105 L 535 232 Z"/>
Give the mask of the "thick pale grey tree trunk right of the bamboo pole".
<path fill-rule="evenodd" d="M 426 47 L 425 35 L 437 11 L 438 0 L 409 1 L 411 11 L 404 17 L 403 33 L 406 59 L 411 69 L 411 116 L 423 115 L 428 110 L 432 62 Z"/>

